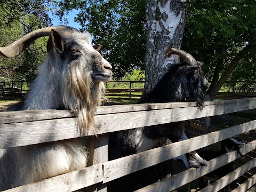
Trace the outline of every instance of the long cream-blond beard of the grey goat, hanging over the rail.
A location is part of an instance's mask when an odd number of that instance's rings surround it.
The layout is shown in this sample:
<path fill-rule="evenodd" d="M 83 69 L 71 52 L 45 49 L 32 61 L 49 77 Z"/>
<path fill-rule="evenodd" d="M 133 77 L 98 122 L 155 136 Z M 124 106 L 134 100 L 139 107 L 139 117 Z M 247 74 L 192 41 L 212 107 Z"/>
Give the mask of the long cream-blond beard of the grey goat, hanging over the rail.
<path fill-rule="evenodd" d="M 105 90 L 103 82 L 92 82 L 91 73 L 82 74 L 78 65 L 69 66 L 66 81 L 62 85 L 63 103 L 65 107 L 77 116 L 77 125 L 80 135 L 87 135 L 92 132 L 99 134 L 99 130 L 94 127 L 94 113 L 96 107 L 101 104 L 102 93 Z"/>

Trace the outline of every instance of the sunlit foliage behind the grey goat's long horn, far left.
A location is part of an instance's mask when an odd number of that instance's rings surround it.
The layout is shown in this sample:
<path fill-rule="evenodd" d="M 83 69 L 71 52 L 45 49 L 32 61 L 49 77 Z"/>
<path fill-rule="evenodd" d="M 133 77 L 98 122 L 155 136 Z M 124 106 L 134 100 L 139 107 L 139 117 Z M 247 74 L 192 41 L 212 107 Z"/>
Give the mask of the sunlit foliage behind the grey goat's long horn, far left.
<path fill-rule="evenodd" d="M 45 4 L 46 3 L 46 4 Z M 6 46 L 32 30 L 51 25 L 43 0 L 0 0 L 0 46 Z M 47 37 L 39 38 L 15 58 L 0 57 L 0 81 L 31 82 L 46 54 Z"/>

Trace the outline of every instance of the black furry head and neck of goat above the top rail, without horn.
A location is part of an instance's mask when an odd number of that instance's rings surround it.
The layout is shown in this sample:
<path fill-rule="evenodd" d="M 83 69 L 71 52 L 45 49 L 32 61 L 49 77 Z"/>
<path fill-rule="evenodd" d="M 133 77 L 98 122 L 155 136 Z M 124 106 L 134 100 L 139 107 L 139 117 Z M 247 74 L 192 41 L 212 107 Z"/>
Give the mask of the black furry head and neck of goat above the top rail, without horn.
<path fill-rule="evenodd" d="M 201 65 L 201 62 L 198 62 L 197 67 L 189 66 L 186 63 L 173 65 L 158 82 L 155 89 L 144 94 L 138 103 L 180 102 L 187 99 L 203 107 L 204 92 L 209 85 Z"/>

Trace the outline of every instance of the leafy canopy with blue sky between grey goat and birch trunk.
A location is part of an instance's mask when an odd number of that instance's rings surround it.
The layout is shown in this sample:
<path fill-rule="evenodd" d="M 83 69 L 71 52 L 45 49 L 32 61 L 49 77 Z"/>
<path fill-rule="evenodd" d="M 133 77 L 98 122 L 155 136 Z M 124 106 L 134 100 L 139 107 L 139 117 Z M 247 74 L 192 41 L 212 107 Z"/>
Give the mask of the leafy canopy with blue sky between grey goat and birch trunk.
<path fill-rule="evenodd" d="M 62 1 L 62 11 L 80 9 L 76 21 L 101 43 L 102 55 L 113 66 L 114 77 L 145 68 L 145 2 L 135 0 Z"/>

